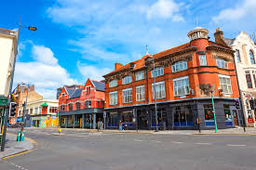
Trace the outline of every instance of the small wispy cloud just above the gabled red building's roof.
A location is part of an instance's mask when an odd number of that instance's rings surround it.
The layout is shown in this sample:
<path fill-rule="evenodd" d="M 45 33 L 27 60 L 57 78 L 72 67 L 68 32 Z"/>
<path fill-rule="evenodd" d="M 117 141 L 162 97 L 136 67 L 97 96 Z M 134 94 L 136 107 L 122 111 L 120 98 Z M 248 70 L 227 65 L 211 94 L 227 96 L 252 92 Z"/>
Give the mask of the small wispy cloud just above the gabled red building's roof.
<path fill-rule="evenodd" d="M 101 81 L 104 78 L 102 75 L 111 72 L 112 70 L 109 68 L 99 68 L 98 66 L 92 66 L 84 63 L 77 62 L 77 67 L 79 72 L 85 77 L 85 79 L 92 79 Z"/>

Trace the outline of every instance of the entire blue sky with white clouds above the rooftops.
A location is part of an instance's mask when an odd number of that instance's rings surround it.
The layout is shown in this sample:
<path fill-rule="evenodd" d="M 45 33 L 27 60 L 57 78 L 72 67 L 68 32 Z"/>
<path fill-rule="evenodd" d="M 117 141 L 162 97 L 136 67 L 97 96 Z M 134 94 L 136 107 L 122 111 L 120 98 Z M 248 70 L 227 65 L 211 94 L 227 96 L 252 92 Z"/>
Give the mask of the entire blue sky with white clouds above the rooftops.
<path fill-rule="evenodd" d="M 54 98 L 62 85 L 84 84 L 145 54 L 188 42 L 198 26 L 224 36 L 256 32 L 256 0 L 13 0 L 0 6 L 0 27 L 22 29 L 15 83 L 36 86 Z"/>

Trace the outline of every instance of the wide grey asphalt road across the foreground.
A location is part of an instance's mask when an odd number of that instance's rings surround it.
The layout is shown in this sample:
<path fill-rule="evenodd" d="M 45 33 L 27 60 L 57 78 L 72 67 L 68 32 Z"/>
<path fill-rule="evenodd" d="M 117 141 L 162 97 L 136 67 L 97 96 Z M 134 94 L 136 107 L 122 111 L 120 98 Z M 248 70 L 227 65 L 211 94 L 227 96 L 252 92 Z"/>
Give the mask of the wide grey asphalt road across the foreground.
<path fill-rule="evenodd" d="M 12 130 L 9 130 L 9 132 Z M 0 170 L 256 169 L 256 136 L 26 133 L 35 149 L 0 161 Z"/>

